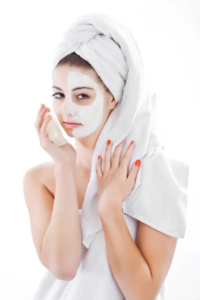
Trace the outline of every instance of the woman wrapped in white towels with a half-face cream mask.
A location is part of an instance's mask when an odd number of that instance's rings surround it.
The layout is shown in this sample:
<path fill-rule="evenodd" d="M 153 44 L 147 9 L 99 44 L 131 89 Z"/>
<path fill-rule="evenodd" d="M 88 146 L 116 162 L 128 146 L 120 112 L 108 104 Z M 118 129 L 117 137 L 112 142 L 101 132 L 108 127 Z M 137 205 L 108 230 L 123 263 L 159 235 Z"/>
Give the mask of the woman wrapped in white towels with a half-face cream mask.
<path fill-rule="evenodd" d="M 50 141 L 43 105 L 35 127 L 53 163 L 24 180 L 29 211 L 28 182 L 52 197 L 34 235 L 48 269 L 34 299 L 163 299 L 184 236 L 188 167 L 172 165 L 160 146 L 136 43 L 107 15 L 82 16 L 57 47 L 52 81 L 53 110 L 75 149 Z M 36 225 L 30 215 L 36 232 L 39 217 Z"/>

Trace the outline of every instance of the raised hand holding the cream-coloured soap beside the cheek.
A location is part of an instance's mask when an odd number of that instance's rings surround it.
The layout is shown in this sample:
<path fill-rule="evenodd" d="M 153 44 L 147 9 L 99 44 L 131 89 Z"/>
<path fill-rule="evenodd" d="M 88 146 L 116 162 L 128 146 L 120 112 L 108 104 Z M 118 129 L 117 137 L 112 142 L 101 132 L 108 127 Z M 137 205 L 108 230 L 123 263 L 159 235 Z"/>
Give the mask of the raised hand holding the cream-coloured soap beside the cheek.
<path fill-rule="evenodd" d="M 42 104 L 38 110 L 36 121 L 34 123 L 39 137 L 40 146 L 52 157 L 56 165 L 71 165 L 71 163 L 76 165 L 76 151 L 67 140 L 64 145 L 58 147 L 49 139 L 46 127 L 48 122 L 51 120 L 51 116 L 47 117 L 43 121 L 43 117 L 47 111 L 50 111 L 50 109 Z"/>

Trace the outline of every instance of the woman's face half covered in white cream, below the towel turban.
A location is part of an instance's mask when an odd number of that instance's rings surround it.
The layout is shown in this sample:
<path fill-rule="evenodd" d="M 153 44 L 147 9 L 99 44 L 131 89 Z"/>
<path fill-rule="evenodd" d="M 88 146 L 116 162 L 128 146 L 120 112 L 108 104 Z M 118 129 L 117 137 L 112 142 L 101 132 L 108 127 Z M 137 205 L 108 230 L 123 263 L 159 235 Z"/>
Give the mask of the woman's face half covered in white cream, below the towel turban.
<path fill-rule="evenodd" d="M 71 133 L 76 138 L 85 137 L 104 123 L 110 108 L 103 86 L 97 83 L 93 70 L 57 66 L 53 71 L 52 82 L 53 86 L 61 89 L 53 87 L 53 92 L 56 93 L 53 110 L 68 135 Z M 66 128 L 63 121 L 80 124 L 74 128 Z"/>

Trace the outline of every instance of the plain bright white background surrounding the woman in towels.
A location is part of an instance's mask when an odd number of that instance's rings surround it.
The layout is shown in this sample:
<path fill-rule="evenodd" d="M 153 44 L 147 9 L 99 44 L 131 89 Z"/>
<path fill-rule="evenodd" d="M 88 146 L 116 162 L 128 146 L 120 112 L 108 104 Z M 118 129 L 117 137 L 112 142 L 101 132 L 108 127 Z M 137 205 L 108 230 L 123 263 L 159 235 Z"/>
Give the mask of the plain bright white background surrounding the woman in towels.
<path fill-rule="evenodd" d="M 53 114 L 53 51 L 76 17 L 103 12 L 132 30 L 157 93 L 165 148 L 189 164 L 186 233 L 165 280 L 166 300 L 199 300 L 199 2 L 17 0 L 0 11 L 0 298 L 31 299 L 45 271 L 33 246 L 22 180 L 28 168 L 51 160 L 34 122 L 41 103 Z"/>

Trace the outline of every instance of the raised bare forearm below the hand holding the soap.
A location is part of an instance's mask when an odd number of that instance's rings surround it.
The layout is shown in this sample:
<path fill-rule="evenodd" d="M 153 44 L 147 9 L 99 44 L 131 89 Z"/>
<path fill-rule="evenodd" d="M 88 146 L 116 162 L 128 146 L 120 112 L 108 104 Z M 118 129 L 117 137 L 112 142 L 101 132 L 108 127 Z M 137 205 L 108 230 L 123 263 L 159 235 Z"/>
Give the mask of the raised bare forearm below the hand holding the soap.
<path fill-rule="evenodd" d="M 43 237 L 41 256 L 57 278 L 70 280 L 75 276 L 81 254 L 75 167 L 56 166 L 55 182 L 53 211 Z"/>

